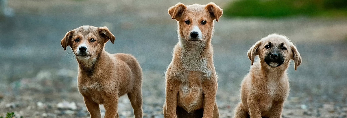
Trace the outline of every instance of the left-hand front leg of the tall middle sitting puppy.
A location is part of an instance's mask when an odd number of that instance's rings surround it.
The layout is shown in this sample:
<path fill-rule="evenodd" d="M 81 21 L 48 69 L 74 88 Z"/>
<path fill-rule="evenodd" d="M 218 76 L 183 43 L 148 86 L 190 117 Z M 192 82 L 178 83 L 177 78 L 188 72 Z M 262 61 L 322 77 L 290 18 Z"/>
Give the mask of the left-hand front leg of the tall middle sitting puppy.
<path fill-rule="evenodd" d="M 167 83 L 166 85 L 166 118 L 177 118 L 177 95 L 178 89 L 177 85 L 172 83 Z M 165 114 L 165 113 L 164 113 Z"/>

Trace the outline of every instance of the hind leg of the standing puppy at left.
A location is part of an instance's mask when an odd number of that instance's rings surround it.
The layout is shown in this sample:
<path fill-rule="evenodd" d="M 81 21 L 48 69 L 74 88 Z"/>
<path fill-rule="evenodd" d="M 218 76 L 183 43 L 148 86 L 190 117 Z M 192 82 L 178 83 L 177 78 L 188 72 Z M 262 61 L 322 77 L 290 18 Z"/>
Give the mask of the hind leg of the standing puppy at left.
<path fill-rule="evenodd" d="M 130 99 L 130 103 L 134 109 L 135 118 L 142 118 L 143 110 L 141 86 L 138 88 L 135 87 L 133 91 L 129 92 L 128 98 Z"/>

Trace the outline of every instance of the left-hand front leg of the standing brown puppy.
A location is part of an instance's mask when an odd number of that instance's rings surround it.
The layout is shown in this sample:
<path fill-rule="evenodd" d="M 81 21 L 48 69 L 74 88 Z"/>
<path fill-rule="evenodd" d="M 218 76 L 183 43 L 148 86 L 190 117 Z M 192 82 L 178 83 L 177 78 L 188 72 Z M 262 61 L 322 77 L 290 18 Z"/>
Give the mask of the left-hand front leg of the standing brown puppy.
<path fill-rule="evenodd" d="M 99 104 L 94 102 L 90 96 L 83 98 L 91 118 L 101 118 Z"/>

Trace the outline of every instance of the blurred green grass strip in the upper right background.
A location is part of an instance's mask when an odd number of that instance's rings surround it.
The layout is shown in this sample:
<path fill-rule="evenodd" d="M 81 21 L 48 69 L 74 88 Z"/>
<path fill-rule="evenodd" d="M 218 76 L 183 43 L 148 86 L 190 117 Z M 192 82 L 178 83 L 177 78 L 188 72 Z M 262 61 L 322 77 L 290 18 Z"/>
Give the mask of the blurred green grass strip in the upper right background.
<path fill-rule="evenodd" d="M 237 0 L 224 9 L 228 17 L 346 17 L 347 0 Z"/>

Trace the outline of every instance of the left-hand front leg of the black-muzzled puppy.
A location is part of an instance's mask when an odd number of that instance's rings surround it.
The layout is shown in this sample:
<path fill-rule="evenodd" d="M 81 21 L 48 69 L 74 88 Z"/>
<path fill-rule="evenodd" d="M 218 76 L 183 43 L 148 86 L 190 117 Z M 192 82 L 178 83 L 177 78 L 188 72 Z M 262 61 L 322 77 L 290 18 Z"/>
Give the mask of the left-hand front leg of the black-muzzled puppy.
<path fill-rule="evenodd" d="M 259 105 L 259 96 L 259 94 L 250 94 L 247 99 L 249 116 L 251 116 L 251 118 L 262 118 Z"/>

